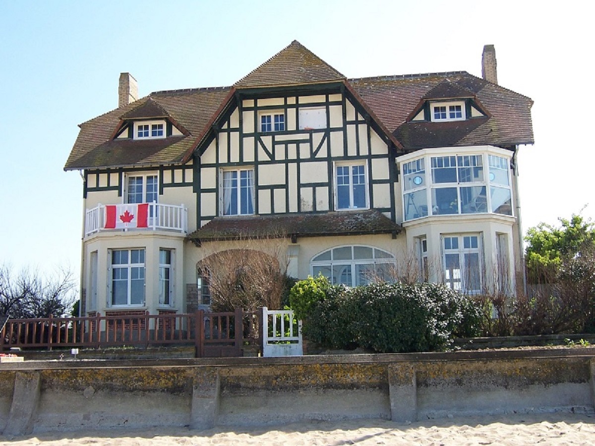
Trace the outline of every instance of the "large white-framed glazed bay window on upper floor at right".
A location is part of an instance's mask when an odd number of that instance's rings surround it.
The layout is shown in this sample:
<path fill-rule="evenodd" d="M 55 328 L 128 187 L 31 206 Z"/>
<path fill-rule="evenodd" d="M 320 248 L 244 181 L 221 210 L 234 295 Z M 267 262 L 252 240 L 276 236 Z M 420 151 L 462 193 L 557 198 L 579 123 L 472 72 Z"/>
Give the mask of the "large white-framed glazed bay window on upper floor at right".
<path fill-rule="evenodd" d="M 489 174 L 484 169 L 486 164 Z M 427 165 L 430 175 L 426 174 Z M 427 215 L 512 215 L 509 164 L 502 156 L 425 156 L 403 162 L 402 173 L 405 221 Z"/>

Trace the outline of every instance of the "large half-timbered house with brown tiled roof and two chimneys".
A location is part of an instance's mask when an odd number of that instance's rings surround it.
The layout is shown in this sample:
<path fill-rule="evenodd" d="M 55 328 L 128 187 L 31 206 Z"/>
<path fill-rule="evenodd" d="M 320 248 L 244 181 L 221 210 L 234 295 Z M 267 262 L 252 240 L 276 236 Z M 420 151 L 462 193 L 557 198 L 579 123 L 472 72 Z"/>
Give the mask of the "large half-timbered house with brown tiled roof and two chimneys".
<path fill-rule="evenodd" d="M 267 237 L 296 278 L 407 265 L 513 293 L 533 102 L 497 84 L 493 46 L 482 63 L 483 78 L 346 78 L 294 41 L 230 87 L 137 99 L 121 74 L 118 108 L 80 125 L 65 165 L 84 178 L 82 314 L 192 312 L 205 256 Z"/>

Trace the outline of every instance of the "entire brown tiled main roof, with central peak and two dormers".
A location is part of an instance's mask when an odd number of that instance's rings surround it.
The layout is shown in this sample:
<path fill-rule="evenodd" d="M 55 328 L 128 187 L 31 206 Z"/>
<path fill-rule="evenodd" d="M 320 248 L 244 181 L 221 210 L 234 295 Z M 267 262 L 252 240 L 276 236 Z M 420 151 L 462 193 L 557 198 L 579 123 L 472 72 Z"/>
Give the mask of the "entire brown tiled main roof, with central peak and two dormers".
<path fill-rule="evenodd" d="M 533 143 L 527 96 L 466 71 L 346 79 L 294 40 L 264 64 L 228 87 L 165 90 L 80 124 L 65 169 L 131 167 L 186 162 L 211 125 L 233 103 L 236 91 L 312 83 L 345 84 L 397 149 Z M 425 100 L 471 98 L 486 117 L 451 123 L 409 121 Z M 162 118 L 183 136 L 160 140 L 112 140 L 130 120 Z"/>

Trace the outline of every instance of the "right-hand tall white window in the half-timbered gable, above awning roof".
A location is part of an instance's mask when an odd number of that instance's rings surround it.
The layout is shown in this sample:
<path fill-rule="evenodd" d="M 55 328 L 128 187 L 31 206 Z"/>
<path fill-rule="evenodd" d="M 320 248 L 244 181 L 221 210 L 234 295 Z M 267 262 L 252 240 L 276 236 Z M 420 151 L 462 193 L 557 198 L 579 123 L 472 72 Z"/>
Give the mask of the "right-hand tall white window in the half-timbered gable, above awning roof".
<path fill-rule="evenodd" d="M 366 165 L 335 166 L 336 209 L 367 209 L 368 187 L 366 181 Z"/>

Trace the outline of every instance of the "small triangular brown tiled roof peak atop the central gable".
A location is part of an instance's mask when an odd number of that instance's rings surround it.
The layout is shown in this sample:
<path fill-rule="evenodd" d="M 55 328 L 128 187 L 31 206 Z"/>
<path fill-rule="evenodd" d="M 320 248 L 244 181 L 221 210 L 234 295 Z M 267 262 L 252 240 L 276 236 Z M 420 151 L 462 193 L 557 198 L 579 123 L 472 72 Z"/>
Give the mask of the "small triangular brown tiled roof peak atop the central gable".
<path fill-rule="evenodd" d="M 311 84 L 344 80 L 345 76 L 297 40 L 234 84 L 236 88 Z"/>

